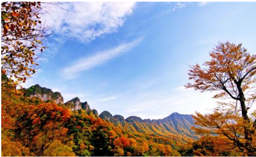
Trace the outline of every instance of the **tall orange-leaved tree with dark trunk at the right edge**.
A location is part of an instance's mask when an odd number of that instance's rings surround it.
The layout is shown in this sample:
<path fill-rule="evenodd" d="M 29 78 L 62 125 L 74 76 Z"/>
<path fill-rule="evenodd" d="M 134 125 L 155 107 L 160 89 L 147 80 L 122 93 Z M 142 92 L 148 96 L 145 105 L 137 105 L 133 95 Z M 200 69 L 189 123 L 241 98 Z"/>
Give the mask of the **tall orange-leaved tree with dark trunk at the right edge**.
<path fill-rule="evenodd" d="M 256 120 L 248 116 L 248 110 L 256 99 L 256 55 L 251 55 L 242 44 L 219 43 L 210 52 L 211 60 L 203 66 L 196 64 L 189 70 L 186 88 L 214 91 L 214 98 L 231 98 L 234 101 L 220 104 L 229 106 L 214 113 L 196 113 L 194 128 L 197 133 L 214 133 L 226 136 L 235 146 L 255 155 Z"/>

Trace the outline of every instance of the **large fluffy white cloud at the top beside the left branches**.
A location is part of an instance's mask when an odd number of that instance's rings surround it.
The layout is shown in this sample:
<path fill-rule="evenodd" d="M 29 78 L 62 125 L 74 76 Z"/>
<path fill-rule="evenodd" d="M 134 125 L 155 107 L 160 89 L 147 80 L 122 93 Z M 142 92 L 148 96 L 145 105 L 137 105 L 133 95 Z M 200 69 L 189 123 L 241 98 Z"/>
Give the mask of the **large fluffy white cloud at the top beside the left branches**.
<path fill-rule="evenodd" d="M 135 2 L 68 2 L 48 5 L 42 18 L 58 35 L 89 42 L 116 32 L 134 7 Z"/>

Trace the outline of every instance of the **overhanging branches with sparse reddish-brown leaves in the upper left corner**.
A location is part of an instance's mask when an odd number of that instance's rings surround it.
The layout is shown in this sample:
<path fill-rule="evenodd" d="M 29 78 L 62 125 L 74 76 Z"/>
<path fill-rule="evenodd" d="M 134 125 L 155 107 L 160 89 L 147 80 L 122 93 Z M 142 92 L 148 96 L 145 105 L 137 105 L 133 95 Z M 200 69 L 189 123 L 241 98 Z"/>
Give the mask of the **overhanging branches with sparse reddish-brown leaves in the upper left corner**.
<path fill-rule="evenodd" d="M 40 20 L 45 13 L 40 2 L 1 3 L 1 76 L 7 75 L 16 86 L 36 72 L 36 53 L 49 34 Z"/>

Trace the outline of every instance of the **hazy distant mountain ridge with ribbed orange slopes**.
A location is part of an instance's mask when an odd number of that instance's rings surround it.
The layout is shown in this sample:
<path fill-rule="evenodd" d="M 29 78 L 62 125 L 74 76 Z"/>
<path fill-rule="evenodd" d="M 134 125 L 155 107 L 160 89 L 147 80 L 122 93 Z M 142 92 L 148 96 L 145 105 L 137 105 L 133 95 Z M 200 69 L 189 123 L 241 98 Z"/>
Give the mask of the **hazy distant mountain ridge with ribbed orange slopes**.
<path fill-rule="evenodd" d="M 121 115 L 112 116 L 108 111 L 103 111 L 100 118 L 113 123 L 114 125 L 122 125 L 130 130 L 136 130 L 139 133 L 155 133 L 157 135 L 168 137 L 172 135 L 184 135 L 191 138 L 198 138 L 191 130 L 194 119 L 191 115 L 183 115 L 172 113 L 163 119 L 141 119 L 140 117 L 130 116 L 124 119 Z"/>

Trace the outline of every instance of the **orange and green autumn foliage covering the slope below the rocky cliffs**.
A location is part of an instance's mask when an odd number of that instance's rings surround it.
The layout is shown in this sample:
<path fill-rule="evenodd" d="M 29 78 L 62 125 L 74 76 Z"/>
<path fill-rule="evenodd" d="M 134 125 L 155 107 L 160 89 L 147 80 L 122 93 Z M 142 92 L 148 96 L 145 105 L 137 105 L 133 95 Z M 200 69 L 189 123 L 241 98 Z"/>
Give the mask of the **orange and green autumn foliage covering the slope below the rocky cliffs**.
<path fill-rule="evenodd" d="M 54 102 L 34 104 L 37 100 L 23 96 L 13 100 L 4 110 L 8 117 L 2 117 L 9 122 L 2 123 L 2 155 L 179 156 L 174 148 L 161 144 L 167 140 L 163 137 L 153 142 L 147 133 L 127 132 L 93 114 Z"/>

